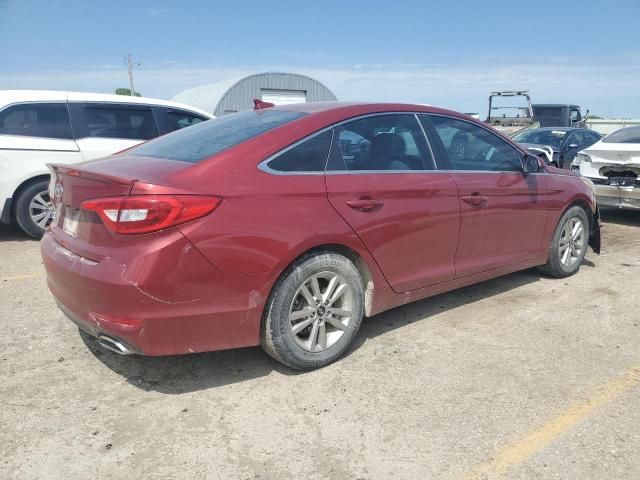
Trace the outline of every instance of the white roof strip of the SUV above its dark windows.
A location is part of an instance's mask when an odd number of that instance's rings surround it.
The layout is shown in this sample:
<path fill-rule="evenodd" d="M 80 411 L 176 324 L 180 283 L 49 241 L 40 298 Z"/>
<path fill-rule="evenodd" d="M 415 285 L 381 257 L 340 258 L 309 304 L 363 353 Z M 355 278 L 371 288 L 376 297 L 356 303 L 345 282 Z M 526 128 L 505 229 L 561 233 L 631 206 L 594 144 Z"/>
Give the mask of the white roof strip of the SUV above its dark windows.
<path fill-rule="evenodd" d="M 67 92 L 59 90 L 0 90 L 0 108 L 19 102 L 113 102 L 174 107 L 213 118 L 213 115 L 190 105 L 147 97 L 130 97 L 106 93 Z"/>

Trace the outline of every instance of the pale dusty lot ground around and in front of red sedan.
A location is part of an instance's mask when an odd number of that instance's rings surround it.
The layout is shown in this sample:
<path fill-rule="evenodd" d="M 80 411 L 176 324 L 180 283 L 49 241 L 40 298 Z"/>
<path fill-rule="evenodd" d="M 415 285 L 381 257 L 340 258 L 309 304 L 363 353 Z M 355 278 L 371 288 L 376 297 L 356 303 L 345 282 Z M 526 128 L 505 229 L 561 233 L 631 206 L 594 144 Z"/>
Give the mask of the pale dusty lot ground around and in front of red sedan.
<path fill-rule="evenodd" d="M 259 348 L 119 357 L 0 231 L 0 478 L 640 478 L 640 213 L 553 280 L 386 312 L 328 368 Z"/>

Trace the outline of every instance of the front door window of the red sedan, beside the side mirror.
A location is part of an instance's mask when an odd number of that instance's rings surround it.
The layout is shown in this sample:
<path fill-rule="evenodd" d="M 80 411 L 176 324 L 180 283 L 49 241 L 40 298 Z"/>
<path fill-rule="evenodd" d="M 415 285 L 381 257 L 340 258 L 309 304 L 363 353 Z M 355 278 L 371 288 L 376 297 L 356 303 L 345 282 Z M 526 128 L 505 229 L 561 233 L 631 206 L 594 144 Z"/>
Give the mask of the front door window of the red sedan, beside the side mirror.
<path fill-rule="evenodd" d="M 521 154 L 489 130 L 471 122 L 430 115 L 452 170 L 521 172 Z"/>

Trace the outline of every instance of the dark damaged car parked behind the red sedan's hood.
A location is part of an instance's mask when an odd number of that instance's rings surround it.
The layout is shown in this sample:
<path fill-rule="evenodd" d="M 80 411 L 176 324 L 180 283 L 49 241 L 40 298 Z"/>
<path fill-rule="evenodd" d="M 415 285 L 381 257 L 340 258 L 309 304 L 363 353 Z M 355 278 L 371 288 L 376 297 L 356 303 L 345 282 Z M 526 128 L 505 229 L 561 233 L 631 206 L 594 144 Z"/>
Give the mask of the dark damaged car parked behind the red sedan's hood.
<path fill-rule="evenodd" d="M 547 127 L 523 130 L 512 138 L 534 155 L 544 153 L 543 158 L 550 165 L 569 168 L 576 154 L 596 143 L 602 135 L 586 128 Z"/>

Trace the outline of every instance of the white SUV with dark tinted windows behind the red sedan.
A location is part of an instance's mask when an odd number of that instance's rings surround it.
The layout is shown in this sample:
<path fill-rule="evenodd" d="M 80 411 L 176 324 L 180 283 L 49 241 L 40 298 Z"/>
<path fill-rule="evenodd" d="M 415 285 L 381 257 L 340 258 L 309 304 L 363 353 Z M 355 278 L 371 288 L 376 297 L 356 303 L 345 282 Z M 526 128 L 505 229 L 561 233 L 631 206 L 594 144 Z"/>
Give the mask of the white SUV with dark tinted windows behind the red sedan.
<path fill-rule="evenodd" d="M 42 236 L 54 215 L 47 163 L 103 157 L 210 118 L 165 100 L 0 90 L 0 223 Z"/>

